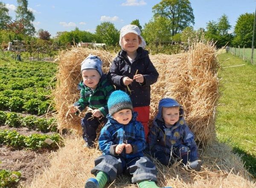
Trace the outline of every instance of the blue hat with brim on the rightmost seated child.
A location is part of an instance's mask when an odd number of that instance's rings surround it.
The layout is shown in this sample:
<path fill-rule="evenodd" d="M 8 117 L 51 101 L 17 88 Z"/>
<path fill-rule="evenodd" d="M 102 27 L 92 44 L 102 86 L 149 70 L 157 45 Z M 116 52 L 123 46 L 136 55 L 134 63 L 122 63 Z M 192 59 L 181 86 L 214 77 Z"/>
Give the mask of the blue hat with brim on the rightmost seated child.
<path fill-rule="evenodd" d="M 159 101 L 158 104 L 158 113 L 156 118 L 154 119 L 154 121 L 156 119 L 158 119 L 159 121 L 163 121 L 163 117 L 162 117 L 162 109 L 163 107 L 180 107 L 180 117 L 183 117 L 183 107 L 173 98 L 163 98 Z"/>

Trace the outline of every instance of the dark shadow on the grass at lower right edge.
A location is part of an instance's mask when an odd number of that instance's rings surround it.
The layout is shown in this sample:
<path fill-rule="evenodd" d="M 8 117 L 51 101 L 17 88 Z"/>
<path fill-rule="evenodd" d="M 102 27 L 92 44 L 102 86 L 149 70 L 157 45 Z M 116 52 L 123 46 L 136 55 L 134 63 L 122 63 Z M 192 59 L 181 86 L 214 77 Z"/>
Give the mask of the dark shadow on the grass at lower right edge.
<path fill-rule="evenodd" d="M 256 157 L 245 153 L 243 150 L 237 147 L 233 147 L 233 151 L 241 155 L 243 162 L 245 162 L 245 169 L 249 171 L 254 178 L 256 178 Z"/>

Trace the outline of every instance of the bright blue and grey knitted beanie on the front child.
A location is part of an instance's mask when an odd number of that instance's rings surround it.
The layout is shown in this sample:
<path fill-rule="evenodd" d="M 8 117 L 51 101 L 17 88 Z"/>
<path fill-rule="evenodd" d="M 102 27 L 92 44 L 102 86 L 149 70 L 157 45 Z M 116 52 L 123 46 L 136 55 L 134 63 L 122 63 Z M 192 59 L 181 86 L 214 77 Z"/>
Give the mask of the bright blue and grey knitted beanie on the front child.
<path fill-rule="evenodd" d="M 127 93 L 116 90 L 108 98 L 108 112 L 112 116 L 114 113 L 124 109 L 133 109 L 131 98 Z"/>

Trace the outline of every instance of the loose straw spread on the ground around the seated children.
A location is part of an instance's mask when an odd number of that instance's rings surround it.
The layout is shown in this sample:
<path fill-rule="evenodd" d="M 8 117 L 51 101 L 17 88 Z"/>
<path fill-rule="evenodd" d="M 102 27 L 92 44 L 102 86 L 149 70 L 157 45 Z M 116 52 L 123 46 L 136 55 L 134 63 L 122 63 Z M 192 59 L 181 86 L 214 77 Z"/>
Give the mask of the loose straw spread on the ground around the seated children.
<path fill-rule="evenodd" d="M 67 139 L 65 147 L 52 153 L 50 167 L 43 174 L 35 176 L 27 188 L 79 188 L 93 177 L 90 170 L 94 167 L 94 159 L 101 153 L 96 149 L 83 148 L 83 140 L 79 137 Z M 255 188 L 248 173 L 242 167 L 240 157 L 231 153 L 228 146 L 214 143 L 206 147 L 203 169 L 200 172 L 184 169 L 178 162 L 168 168 L 156 159 L 157 185 L 173 188 Z M 130 177 L 120 176 L 106 188 L 137 188 L 130 182 Z"/>

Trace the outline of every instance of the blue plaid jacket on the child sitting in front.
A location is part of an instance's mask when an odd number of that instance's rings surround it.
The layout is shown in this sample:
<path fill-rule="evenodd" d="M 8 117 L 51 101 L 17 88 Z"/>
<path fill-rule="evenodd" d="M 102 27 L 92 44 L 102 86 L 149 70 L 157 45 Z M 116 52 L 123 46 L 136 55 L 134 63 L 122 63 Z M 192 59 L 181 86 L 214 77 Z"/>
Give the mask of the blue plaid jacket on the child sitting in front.
<path fill-rule="evenodd" d="M 107 116 L 108 122 L 102 128 L 99 136 L 99 149 L 103 155 L 122 156 L 125 159 L 142 157 L 146 147 L 145 133 L 143 125 L 136 120 L 137 112 L 132 113 L 129 124 L 120 124 L 111 115 Z M 116 154 L 115 148 L 118 144 L 127 143 L 133 147 L 132 153 Z"/>

